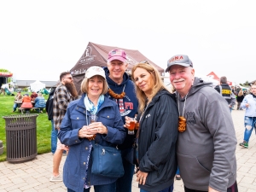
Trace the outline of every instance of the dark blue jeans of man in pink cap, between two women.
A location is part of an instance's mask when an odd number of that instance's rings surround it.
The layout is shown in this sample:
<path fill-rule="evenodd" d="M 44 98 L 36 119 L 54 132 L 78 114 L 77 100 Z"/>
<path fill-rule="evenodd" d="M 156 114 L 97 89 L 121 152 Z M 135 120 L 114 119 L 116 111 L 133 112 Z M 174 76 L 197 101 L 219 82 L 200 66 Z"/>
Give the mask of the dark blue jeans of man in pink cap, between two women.
<path fill-rule="evenodd" d="M 132 165 L 123 158 L 125 175 L 116 181 L 116 192 L 131 192 L 131 182 L 135 165 Z"/>

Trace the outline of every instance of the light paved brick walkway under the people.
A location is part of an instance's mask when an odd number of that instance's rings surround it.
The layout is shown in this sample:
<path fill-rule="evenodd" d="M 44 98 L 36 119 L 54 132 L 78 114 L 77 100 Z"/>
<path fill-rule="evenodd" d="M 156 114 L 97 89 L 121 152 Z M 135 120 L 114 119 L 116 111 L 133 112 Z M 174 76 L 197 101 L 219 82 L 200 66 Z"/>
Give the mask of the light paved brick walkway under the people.
<path fill-rule="evenodd" d="M 232 111 L 233 121 L 236 127 L 237 143 L 243 138 L 244 111 Z M 24 163 L 0 163 L 0 191 L 5 192 L 32 192 L 32 191 L 67 191 L 62 182 L 49 182 L 52 170 L 51 153 L 40 154 L 34 160 Z M 61 172 L 66 156 L 61 160 Z M 256 137 L 252 134 L 249 148 L 236 148 L 237 183 L 240 192 L 256 191 Z M 93 189 L 91 190 L 93 191 Z M 175 192 L 183 192 L 183 182 L 175 181 Z M 136 177 L 133 179 L 132 192 L 139 192 Z"/>

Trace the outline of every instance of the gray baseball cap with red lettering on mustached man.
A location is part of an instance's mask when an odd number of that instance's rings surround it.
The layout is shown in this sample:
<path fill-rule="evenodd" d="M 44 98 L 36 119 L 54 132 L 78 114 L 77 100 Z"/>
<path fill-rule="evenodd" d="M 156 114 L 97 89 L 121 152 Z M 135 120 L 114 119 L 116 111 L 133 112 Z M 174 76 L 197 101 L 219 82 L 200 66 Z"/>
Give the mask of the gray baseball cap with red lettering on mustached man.
<path fill-rule="evenodd" d="M 188 55 L 174 55 L 167 61 L 166 72 L 169 72 L 170 67 L 174 65 L 179 65 L 183 67 L 193 67 L 192 61 L 189 59 Z"/>

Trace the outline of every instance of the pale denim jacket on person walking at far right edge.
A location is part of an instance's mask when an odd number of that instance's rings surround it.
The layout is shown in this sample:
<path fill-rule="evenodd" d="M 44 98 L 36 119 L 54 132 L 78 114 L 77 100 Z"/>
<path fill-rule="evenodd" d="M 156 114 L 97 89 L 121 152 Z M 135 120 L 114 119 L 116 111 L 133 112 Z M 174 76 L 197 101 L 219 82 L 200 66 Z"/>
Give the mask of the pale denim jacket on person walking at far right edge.
<path fill-rule="evenodd" d="M 249 108 L 245 105 L 249 104 Z M 256 98 L 253 98 L 252 94 L 245 96 L 241 102 L 241 108 L 246 108 L 245 116 L 247 117 L 256 117 Z"/>

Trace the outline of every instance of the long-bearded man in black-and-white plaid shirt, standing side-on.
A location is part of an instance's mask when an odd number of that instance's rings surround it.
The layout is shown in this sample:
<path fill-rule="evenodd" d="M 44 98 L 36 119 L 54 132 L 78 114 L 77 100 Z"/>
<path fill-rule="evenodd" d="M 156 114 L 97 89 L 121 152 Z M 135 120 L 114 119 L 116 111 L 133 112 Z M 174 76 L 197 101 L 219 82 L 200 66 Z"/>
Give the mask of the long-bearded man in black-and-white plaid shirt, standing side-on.
<path fill-rule="evenodd" d="M 63 72 L 60 75 L 60 84 L 55 89 L 54 93 L 54 108 L 53 108 L 53 119 L 55 124 L 55 129 L 60 130 L 61 128 L 61 121 L 64 118 L 64 115 L 67 111 L 67 106 L 70 102 L 77 99 L 78 92 L 73 84 L 73 78 L 71 73 Z M 55 154 L 53 157 L 53 173 L 52 176 L 49 178 L 49 181 L 62 181 L 62 177 L 60 174 L 60 164 L 61 164 L 61 157 L 64 150 L 68 150 L 64 144 L 57 141 L 57 148 L 55 150 Z"/>

